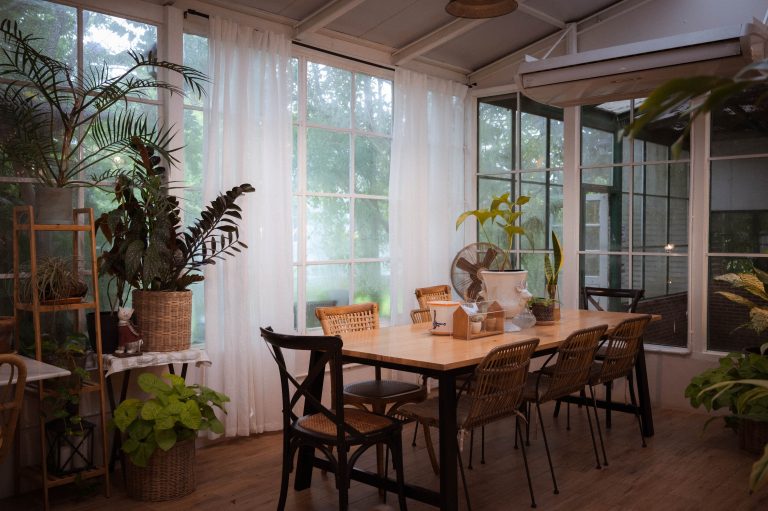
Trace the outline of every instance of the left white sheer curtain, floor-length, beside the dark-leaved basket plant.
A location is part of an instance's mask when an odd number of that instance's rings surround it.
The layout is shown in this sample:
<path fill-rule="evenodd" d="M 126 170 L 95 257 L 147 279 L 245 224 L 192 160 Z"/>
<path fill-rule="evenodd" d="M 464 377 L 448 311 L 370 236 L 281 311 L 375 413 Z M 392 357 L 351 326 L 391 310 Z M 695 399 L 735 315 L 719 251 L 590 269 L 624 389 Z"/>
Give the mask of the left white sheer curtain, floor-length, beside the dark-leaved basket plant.
<path fill-rule="evenodd" d="M 204 199 L 240 183 L 248 249 L 205 272 L 207 384 L 231 399 L 226 436 L 282 427 L 280 385 L 259 327 L 293 328 L 290 41 L 211 17 Z"/>

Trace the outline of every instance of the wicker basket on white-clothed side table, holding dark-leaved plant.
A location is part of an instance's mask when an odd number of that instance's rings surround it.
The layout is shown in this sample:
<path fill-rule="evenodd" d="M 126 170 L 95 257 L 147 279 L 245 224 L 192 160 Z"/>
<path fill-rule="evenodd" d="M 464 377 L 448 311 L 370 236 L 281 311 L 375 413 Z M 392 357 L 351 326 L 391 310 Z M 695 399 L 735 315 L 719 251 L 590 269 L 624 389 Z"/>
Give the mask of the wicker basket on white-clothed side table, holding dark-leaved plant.
<path fill-rule="evenodd" d="M 133 292 L 142 351 L 181 351 L 192 339 L 192 291 Z"/>

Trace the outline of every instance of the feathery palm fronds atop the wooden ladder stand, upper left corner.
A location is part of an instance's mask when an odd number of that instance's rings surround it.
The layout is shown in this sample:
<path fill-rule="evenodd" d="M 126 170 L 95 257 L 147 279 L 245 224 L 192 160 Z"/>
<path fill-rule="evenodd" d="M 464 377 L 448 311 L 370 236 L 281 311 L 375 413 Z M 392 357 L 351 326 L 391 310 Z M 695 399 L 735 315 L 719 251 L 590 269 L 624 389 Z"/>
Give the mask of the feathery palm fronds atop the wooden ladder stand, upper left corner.
<path fill-rule="evenodd" d="M 127 99 L 158 89 L 184 94 L 168 81 L 143 77 L 142 71 L 177 73 L 198 96 L 207 81 L 203 73 L 134 51 L 128 52 L 131 65 L 115 76 L 106 63 L 78 73 L 35 49 L 36 40 L 9 19 L 0 23 L 0 153 L 15 170 L 48 186 L 90 184 L 85 172 L 126 151 L 133 137 L 173 160 L 172 130 L 126 108 Z M 112 109 L 120 104 L 124 108 Z M 85 151 L 89 139 L 94 148 Z"/>

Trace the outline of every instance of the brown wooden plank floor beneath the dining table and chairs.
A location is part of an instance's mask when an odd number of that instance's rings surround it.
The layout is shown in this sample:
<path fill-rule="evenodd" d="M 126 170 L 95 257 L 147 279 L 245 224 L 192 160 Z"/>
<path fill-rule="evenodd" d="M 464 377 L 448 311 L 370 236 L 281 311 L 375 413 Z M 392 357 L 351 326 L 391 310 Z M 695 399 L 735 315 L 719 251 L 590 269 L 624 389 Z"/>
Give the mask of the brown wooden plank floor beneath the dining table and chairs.
<path fill-rule="evenodd" d="M 656 436 L 648 447 L 640 446 L 639 431 L 631 416 L 614 415 L 608 433 L 610 465 L 595 469 L 583 410 L 572 409 L 571 431 L 565 430 L 565 414 L 552 419 L 546 407 L 545 422 L 553 447 L 560 494 L 552 493 L 544 445 L 531 438 L 529 459 L 540 510 L 766 510 L 768 488 L 755 495 L 747 492 L 754 456 L 740 451 L 735 435 L 713 423 L 702 434 L 706 417 L 680 411 L 655 411 Z M 501 422 L 486 433 L 487 460 L 468 472 L 473 508 L 476 510 L 526 509 L 530 505 L 519 451 L 512 445 L 513 423 Z M 406 478 L 436 487 L 420 435 L 410 445 L 413 425 L 405 426 Z M 479 439 L 476 446 L 479 447 Z M 273 510 L 279 492 L 279 434 L 234 439 L 198 450 L 197 490 L 190 496 L 164 503 L 140 503 L 128 499 L 115 477 L 112 498 L 102 493 L 82 497 L 72 488 L 52 493 L 54 509 L 61 511 L 189 511 Z M 468 454 L 468 445 L 464 454 Z M 361 464 L 372 469 L 367 453 Z M 293 479 L 291 479 L 293 481 Z M 351 509 L 391 509 L 381 506 L 375 489 L 352 483 Z M 396 502 L 390 496 L 390 504 Z M 409 509 L 434 509 L 408 501 Z M 461 502 L 462 507 L 465 503 Z M 379 507 L 377 507 L 379 506 Z M 40 497 L 28 494 L 0 500 L 0 510 L 21 511 L 40 507 Z M 287 509 L 296 511 L 336 509 L 333 478 L 315 473 L 312 488 L 300 493 L 291 489 Z"/>

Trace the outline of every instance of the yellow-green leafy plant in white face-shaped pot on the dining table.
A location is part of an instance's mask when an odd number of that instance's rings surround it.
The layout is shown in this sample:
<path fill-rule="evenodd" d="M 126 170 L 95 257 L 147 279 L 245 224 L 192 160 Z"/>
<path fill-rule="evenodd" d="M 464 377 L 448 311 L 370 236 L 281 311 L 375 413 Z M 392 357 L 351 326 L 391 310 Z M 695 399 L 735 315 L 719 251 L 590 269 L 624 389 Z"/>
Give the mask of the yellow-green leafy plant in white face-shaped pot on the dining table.
<path fill-rule="evenodd" d="M 465 211 L 456 219 L 456 229 L 458 229 L 467 218 L 477 219 L 483 236 L 487 240 L 493 239 L 486 229 L 488 222 L 501 230 L 500 250 L 508 255 L 512 250 L 515 235 L 524 235 L 525 229 L 518 225 L 518 219 L 522 215 L 520 210 L 527 204 L 529 197 L 521 195 L 515 200 L 511 199 L 510 194 L 504 193 L 491 199 L 488 208 Z M 528 272 L 526 270 L 507 269 L 506 259 L 504 266 L 500 271 L 481 269 L 478 271 L 485 287 L 486 300 L 499 302 L 504 309 L 507 318 L 515 317 L 525 307 L 531 294 L 527 289 L 526 279 Z"/>

